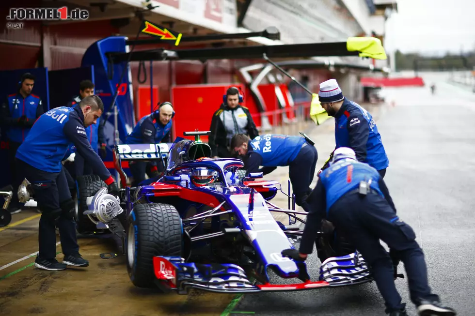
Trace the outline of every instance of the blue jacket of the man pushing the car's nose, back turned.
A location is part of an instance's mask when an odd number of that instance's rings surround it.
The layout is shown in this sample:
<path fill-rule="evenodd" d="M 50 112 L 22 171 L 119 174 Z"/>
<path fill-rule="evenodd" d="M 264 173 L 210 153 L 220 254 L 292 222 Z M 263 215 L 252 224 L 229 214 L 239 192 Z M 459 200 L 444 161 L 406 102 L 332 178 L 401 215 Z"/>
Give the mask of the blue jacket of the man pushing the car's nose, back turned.
<path fill-rule="evenodd" d="M 317 233 L 321 228 L 321 220 L 327 216 L 332 205 L 344 194 L 357 189 L 360 181 L 370 179 L 372 179 L 370 187 L 383 196 L 396 212 L 389 190 L 375 168 L 356 161 L 338 162 L 323 170 L 317 186 L 307 198 L 310 210 L 303 229 L 300 253 L 312 253 Z"/>

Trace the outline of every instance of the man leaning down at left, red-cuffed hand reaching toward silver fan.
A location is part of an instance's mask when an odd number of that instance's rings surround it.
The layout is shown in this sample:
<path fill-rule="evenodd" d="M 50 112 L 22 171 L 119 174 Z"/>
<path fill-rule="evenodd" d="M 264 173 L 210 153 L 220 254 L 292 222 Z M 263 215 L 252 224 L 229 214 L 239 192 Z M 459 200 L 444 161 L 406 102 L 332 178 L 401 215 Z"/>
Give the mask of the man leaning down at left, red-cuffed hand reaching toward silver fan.
<path fill-rule="evenodd" d="M 79 254 L 76 237 L 75 203 L 68 190 L 61 161 L 70 143 L 108 186 L 108 193 L 118 196 L 117 183 L 91 148 L 85 128 L 101 116 L 104 105 L 97 95 L 87 96 L 75 107 L 58 107 L 40 116 L 30 134 L 16 152 L 16 166 L 32 183 L 35 200 L 42 211 L 39 222 L 39 253 L 34 266 L 49 271 L 66 266 L 87 267 Z M 56 232 L 59 228 L 63 263 L 56 260 Z"/>

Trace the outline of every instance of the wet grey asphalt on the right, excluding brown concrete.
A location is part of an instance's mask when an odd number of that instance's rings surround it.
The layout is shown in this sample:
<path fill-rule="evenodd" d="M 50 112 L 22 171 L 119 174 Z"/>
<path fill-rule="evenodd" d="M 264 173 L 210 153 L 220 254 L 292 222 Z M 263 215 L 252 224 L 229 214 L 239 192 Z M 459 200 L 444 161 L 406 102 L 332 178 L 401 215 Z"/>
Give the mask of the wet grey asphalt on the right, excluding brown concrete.
<path fill-rule="evenodd" d="M 447 76 L 425 74 L 426 87 L 388 89 L 387 104 L 370 111 L 390 160 L 384 180 L 398 215 L 412 226 L 424 250 L 429 285 L 458 315 L 470 316 L 475 315 L 475 93 L 449 84 Z M 435 95 L 430 94 L 431 82 L 437 85 Z M 331 119 L 312 130 L 317 167 L 334 148 L 333 126 Z M 307 260 L 313 280 L 319 265 L 314 253 Z M 399 267 L 405 274 L 404 265 Z M 275 276 L 271 282 L 291 283 Z M 407 279 L 397 279 L 396 287 L 409 315 L 416 315 Z M 375 283 L 249 294 L 233 311 L 260 316 L 385 315 Z"/>

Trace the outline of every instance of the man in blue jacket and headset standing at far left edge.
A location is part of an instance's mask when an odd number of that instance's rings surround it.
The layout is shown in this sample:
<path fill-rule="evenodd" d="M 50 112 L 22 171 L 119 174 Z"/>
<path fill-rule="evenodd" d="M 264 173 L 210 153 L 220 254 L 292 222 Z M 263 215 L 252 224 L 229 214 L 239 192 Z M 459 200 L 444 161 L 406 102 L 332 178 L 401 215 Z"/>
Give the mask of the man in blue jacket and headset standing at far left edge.
<path fill-rule="evenodd" d="M 12 182 L 18 183 L 19 177 L 15 168 L 15 154 L 18 147 L 28 136 L 33 123 L 44 113 L 43 104 L 39 96 L 32 94 L 35 76 L 23 74 L 18 82 L 16 93 L 10 94 L 1 105 L 0 121 L 6 129 L 8 147 L 8 165 L 12 175 Z M 21 211 L 18 201 L 18 186 L 14 185 L 13 196 L 8 207 L 12 214 Z"/>

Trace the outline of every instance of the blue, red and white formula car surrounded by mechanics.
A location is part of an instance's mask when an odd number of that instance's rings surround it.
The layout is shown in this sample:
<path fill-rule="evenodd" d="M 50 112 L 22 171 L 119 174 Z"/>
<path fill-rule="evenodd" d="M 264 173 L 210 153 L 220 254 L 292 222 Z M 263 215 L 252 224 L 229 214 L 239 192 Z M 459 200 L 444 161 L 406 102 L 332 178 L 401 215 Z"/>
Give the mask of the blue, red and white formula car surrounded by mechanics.
<path fill-rule="evenodd" d="M 190 288 L 214 292 L 259 292 L 347 286 L 372 280 L 364 259 L 357 253 L 322 260 L 318 281 L 310 281 L 305 263 L 281 255 L 302 234 L 296 215 L 306 212 L 281 209 L 270 202 L 282 191 L 277 181 L 257 181 L 262 173 L 242 181 L 238 159 L 214 159 L 200 140 L 209 132 L 185 132 L 195 140 L 177 138 L 168 154 L 166 171 L 137 188 L 121 189 L 121 196 L 107 193 L 102 183 L 86 198 L 82 211 L 96 228 L 121 237 L 127 271 L 138 287 L 158 286 L 163 291 L 188 293 Z M 115 163 L 126 183 L 123 160 L 151 159 L 160 146 L 125 145 L 115 150 Z M 148 148 L 148 152 L 143 150 Z M 153 152 L 152 152 L 153 151 Z M 97 181 L 96 181 L 97 182 Z M 101 187 L 102 185 L 102 187 Z M 289 225 L 277 222 L 273 212 L 289 216 Z M 294 221 L 291 221 L 291 218 Z M 321 233 L 323 234 L 323 233 Z M 327 252 L 328 253 L 328 252 Z M 114 255 L 101 254 L 103 258 Z M 281 278 L 298 278 L 295 284 L 270 284 L 269 269 Z"/>

